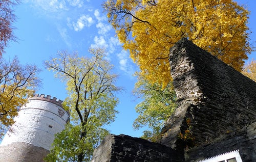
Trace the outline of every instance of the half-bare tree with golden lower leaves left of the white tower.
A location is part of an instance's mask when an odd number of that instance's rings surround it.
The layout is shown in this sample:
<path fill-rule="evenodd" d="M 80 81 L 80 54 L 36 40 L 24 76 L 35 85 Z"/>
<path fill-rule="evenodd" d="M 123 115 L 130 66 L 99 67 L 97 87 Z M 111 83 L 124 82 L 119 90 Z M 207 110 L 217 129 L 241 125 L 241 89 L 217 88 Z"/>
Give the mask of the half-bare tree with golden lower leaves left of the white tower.
<path fill-rule="evenodd" d="M 21 65 L 18 58 L 12 61 L 0 58 L 0 137 L 14 123 L 19 107 L 40 87 L 40 72 L 35 65 Z"/>

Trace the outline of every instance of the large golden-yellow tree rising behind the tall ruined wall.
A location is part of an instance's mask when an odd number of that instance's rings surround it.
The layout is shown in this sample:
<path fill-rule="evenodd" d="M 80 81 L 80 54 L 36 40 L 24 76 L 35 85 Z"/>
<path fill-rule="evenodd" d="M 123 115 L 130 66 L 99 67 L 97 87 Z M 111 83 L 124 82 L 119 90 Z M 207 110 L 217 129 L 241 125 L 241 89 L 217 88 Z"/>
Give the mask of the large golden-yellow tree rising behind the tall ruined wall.
<path fill-rule="evenodd" d="M 251 52 L 249 12 L 232 0 L 108 0 L 109 21 L 141 75 L 165 87 L 169 48 L 182 37 L 242 71 Z"/>

